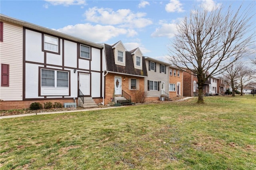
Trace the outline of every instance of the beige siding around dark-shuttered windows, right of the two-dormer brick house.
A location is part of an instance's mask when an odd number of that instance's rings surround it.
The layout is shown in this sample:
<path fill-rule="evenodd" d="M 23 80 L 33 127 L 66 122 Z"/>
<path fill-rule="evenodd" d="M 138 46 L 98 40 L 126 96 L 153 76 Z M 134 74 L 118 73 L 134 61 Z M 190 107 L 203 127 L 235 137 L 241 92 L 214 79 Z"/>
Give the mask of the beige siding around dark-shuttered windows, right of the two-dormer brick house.
<path fill-rule="evenodd" d="M 156 72 L 154 70 L 148 70 L 148 60 L 146 60 L 146 68 L 148 72 L 148 77 L 145 77 L 144 81 L 144 89 L 145 92 L 147 92 L 147 97 L 160 97 L 161 96 L 161 83 L 159 86 L 159 91 L 148 91 L 148 80 L 150 81 L 157 81 L 157 82 L 164 82 L 165 83 L 165 92 L 168 94 L 169 93 L 169 73 L 168 73 L 168 66 L 166 66 L 166 74 L 164 72 L 160 73 L 160 64 L 156 63 Z M 166 95 L 167 95 L 166 94 Z"/>

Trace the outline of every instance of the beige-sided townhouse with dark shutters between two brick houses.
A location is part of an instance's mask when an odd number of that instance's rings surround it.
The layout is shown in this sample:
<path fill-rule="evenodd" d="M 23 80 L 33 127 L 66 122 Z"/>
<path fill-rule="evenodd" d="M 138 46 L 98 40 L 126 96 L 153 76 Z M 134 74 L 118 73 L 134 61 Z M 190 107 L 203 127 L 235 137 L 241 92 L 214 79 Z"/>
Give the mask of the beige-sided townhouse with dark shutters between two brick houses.
<path fill-rule="evenodd" d="M 144 57 L 148 77 L 145 78 L 144 88 L 147 93 L 146 101 L 159 100 L 162 96 L 169 96 L 168 63 L 150 57 Z"/>

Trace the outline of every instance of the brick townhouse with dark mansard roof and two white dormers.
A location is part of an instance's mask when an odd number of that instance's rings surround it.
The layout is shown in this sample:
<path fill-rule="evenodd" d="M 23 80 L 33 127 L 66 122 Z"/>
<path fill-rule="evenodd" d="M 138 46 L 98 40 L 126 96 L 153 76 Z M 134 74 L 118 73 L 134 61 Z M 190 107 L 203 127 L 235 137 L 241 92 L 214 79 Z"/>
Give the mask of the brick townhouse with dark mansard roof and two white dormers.
<path fill-rule="evenodd" d="M 136 93 L 144 92 L 144 78 L 148 76 L 140 49 L 127 51 L 122 41 L 118 41 L 114 45 L 104 44 L 103 55 L 106 57 L 104 104 L 121 96 L 136 102 Z"/>

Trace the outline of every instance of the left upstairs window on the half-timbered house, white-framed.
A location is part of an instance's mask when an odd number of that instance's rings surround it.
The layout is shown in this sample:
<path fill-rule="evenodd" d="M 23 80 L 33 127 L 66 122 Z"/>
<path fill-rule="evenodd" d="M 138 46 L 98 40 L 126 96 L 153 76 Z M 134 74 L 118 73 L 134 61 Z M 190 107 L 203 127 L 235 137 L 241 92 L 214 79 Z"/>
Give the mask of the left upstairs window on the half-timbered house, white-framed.
<path fill-rule="evenodd" d="M 54 39 L 56 40 L 56 42 L 51 41 Z M 59 39 L 57 37 L 53 37 L 53 36 L 44 34 L 44 50 L 58 53 L 59 52 Z"/>

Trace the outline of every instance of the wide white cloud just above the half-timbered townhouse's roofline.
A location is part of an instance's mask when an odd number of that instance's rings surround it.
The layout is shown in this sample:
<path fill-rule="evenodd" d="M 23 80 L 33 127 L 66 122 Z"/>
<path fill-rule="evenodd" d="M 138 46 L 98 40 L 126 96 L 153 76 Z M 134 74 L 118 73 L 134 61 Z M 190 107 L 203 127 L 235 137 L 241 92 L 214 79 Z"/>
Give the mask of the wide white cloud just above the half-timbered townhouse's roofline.
<path fill-rule="evenodd" d="M 104 43 L 113 37 L 126 34 L 130 35 L 133 32 L 132 30 L 116 28 L 112 25 L 102 26 L 91 25 L 90 23 L 68 25 L 54 30 L 96 43 Z M 135 33 L 133 32 L 133 34 Z"/>

